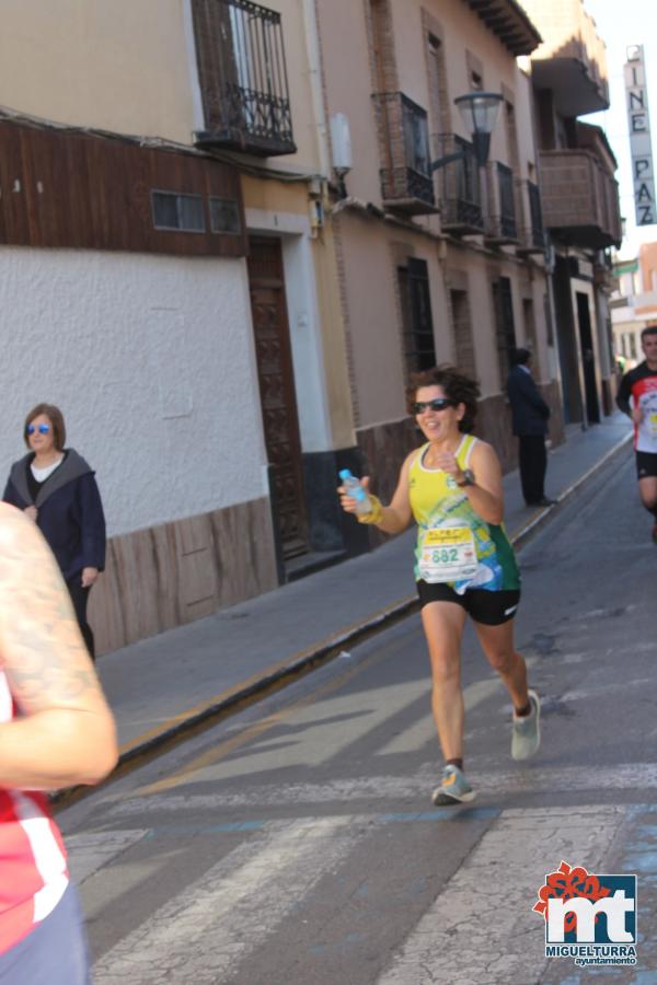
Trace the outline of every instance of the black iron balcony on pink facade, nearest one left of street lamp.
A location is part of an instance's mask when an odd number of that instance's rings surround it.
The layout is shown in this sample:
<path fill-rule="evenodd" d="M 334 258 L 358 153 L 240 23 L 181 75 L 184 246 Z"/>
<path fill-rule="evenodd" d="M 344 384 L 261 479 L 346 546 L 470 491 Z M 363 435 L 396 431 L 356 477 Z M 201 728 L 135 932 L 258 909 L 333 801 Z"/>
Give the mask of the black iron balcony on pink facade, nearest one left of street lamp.
<path fill-rule="evenodd" d="M 436 212 L 426 111 L 401 92 L 374 93 L 383 167 L 383 208 L 419 216 Z"/>

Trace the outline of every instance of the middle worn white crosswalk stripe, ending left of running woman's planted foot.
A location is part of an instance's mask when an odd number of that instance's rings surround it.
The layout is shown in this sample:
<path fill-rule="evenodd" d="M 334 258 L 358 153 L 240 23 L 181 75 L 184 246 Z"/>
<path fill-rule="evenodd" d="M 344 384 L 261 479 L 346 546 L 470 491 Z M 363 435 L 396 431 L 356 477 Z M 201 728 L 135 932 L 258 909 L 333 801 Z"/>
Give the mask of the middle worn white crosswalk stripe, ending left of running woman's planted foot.
<path fill-rule="evenodd" d="M 367 835 L 362 821 L 267 822 L 104 954 L 95 985 L 224 981 Z"/>

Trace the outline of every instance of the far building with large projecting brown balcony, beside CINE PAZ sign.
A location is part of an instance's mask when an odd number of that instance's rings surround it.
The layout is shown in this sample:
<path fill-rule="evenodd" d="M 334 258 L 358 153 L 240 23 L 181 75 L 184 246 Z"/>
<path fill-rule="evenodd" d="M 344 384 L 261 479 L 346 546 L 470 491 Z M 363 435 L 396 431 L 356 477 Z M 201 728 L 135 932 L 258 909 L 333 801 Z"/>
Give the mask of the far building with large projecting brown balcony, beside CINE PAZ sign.
<path fill-rule="evenodd" d="M 531 54 L 543 218 L 553 245 L 553 299 L 567 422 L 599 422 L 613 406 L 610 247 L 622 237 L 616 162 L 600 127 L 607 56 L 581 0 L 526 0 L 543 43 Z"/>

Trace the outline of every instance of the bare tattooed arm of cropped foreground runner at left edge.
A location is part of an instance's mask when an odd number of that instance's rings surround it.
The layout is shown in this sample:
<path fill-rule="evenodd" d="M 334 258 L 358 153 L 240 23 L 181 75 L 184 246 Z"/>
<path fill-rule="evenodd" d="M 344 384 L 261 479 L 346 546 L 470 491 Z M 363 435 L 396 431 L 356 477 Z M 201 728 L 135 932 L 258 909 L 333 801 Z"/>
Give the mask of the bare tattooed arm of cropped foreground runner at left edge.
<path fill-rule="evenodd" d="M 57 563 L 36 525 L 4 503 L 0 669 L 21 716 L 0 723 L 0 787 L 94 784 L 113 769 L 114 719 Z"/>

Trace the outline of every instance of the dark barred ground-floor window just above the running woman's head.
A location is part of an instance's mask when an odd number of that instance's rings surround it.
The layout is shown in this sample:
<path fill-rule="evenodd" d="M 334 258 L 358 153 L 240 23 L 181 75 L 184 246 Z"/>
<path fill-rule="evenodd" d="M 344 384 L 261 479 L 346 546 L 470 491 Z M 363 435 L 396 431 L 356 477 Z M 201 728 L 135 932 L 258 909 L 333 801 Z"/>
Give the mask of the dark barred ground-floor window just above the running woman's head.
<path fill-rule="evenodd" d="M 406 371 L 431 369 L 436 366 L 436 349 L 426 260 L 408 257 L 407 267 L 397 267 L 397 285 Z"/>

